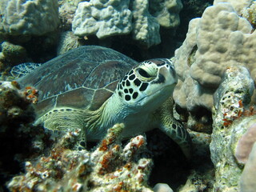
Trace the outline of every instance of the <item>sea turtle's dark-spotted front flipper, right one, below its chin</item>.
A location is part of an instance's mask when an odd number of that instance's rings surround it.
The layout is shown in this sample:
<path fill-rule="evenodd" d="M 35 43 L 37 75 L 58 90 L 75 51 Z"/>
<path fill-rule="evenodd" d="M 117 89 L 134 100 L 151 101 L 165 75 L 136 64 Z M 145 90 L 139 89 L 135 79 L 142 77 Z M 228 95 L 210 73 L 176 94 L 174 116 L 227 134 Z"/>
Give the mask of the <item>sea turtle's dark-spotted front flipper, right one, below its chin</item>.
<path fill-rule="evenodd" d="M 186 158 L 190 159 L 192 155 L 192 142 L 190 134 L 182 125 L 182 122 L 178 122 L 173 116 L 173 100 L 167 99 L 166 102 L 158 109 L 158 115 L 160 114 L 160 130 L 174 140 L 181 147 L 183 154 Z M 159 111 L 160 110 L 160 111 Z"/>

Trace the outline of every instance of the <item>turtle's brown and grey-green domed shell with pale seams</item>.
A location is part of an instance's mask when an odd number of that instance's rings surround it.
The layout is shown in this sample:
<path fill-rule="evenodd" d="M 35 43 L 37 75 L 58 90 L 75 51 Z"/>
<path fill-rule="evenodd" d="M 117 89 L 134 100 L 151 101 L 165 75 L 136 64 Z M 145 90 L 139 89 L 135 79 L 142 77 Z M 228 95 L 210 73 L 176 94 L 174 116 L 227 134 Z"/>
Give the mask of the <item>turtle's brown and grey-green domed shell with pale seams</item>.
<path fill-rule="evenodd" d="M 55 107 L 97 110 L 137 63 L 106 47 L 81 46 L 44 63 L 18 83 L 39 90 L 38 118 Z"/>

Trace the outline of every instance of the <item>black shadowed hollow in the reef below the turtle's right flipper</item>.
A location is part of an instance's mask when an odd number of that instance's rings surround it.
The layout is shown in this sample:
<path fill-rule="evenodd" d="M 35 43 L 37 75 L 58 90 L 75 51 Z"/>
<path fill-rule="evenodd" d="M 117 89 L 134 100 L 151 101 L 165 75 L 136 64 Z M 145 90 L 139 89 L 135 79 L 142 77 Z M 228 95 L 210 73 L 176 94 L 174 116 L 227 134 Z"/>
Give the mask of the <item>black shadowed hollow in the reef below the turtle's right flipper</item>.
<path fill-rule="evenodd" d="M 167 183 L 174 191 L 184 185 L 190 174 L 190 163 L 173 140 L 161 130 L 146 133 L 147 148 L 153 154 L 154 167 L 150 174 L 150 186 Z M 172 174 L 170 174 L 172 173 Z"/>

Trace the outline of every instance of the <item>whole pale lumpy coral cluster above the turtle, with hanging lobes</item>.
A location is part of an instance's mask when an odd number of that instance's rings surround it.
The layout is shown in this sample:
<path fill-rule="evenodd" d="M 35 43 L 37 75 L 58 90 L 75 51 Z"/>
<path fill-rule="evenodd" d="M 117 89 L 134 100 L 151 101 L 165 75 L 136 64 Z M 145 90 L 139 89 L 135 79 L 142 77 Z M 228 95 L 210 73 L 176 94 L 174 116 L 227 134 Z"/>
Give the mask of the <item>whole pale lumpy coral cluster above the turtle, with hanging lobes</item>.
<path fill-rule="evenodd" d="M 131 32 L 135 40 L 150 47 L 161 42 L 160 26 L 175 28 L 179 25 L 181 9 L 180 0 L 90 0 L 78 4 L 72 30 L 78 36 L 96 34 L 98 38 Z"/>

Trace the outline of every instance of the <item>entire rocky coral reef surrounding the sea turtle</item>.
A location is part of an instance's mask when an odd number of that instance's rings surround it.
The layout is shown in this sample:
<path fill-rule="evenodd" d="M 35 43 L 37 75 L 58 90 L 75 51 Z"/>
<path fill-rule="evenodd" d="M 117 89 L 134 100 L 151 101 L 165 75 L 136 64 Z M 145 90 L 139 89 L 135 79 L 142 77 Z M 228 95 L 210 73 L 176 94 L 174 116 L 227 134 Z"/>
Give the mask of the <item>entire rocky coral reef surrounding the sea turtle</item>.
<path fill-rule="evenodd" d="M 180 16 L 190 14 L 197 18 L 186 39 L 175 41 Z M 11 82 L 0 85 L 0 191 L 254 191 L 255 23 L 253 0 L 1 1 L 0 71 Z M 172 58 L 190 162 L 158 131 L 121 142 L 110 129 L 76 151 L 75 131 L 56 136 L 33 126 L 37 90 L 20 90 L 11 67 L 91 44 L 138 60 Z"/>

